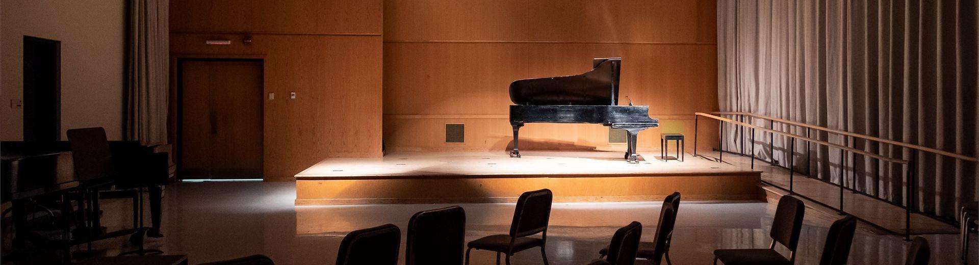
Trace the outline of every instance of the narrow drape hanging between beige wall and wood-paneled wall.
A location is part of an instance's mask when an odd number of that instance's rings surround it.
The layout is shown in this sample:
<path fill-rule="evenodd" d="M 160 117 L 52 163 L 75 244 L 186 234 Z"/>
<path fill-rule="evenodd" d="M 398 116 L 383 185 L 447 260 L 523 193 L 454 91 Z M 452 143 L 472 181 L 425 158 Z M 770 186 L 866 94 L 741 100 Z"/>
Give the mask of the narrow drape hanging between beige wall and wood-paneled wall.
<path fill-rule="evenodd" d="M 169 72 L 167 0 L 129 1 L 125 137 L 166 143 Z"/>

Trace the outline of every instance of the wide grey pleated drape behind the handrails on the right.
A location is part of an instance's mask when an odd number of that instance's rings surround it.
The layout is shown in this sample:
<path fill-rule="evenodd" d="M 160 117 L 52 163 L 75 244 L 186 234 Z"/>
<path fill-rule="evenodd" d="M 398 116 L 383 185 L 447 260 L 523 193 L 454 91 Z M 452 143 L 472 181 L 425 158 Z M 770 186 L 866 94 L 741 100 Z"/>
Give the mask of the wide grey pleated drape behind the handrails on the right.
<path fill-rule="evenodd" d="M 719 101 L 744 111 L 975 156 L 976 0 L 720 0 Z M 732 116 L 728 116 L 732 117 Z M 735 119 L 740 117 L 734 116 Z M 752 120 L 755 125 L 769 122 Z M 783 124 L 775 129 L 807 135 Z M 727 126 L 724 131 L 735 132 Z M 749 132 L 725 134 L 724 150 L 742 152 Z M 914 207 L 955 217 L 976 199 L 976 163 L 844 138 L 812 137 L 878 155 L 912 159 Z M 839 150 L 756 134 L 755 150 L 813 177 L 840 181 Z M 773 152 L 769 151 L 769 142 Z M 744 152 L 750 152 L 750 144 Z M 807 155 L 807 148 L 812 152 Z M 847 187 L 905 203 L 904 167 L 844 154 Z M 807 160 L 808 159 L 808 160 Z"/>

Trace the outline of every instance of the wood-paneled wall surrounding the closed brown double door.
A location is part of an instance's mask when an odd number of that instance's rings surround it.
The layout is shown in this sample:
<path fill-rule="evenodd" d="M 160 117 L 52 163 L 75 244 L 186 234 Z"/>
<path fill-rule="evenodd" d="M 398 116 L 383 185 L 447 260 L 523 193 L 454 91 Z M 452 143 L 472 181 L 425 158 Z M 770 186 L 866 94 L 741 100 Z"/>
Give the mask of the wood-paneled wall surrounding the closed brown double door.
<path fill-rule="evenodd" d="M 264 177 L 291 181 L 328 156 L 381 155 L 381 32 L 381 0 L 171 0 L 171 74 L 179 58 L 262 59 Z"/>

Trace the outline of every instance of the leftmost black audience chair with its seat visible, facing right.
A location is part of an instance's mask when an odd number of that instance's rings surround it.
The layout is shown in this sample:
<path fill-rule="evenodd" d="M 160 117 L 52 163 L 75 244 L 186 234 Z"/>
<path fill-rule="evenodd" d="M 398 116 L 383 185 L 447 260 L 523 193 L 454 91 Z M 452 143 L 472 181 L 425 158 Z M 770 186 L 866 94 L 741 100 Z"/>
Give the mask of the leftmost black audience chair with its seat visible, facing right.
<path fill-rule="evenodd" d="M 550 190 L 526 192 L 517 199 L 517 208 L 513 212 L 513 223 L 510 224 L 509 235 L 492 235 L 472 241 L 466 249 L 466 265 L 469 264 L 469 252 L 485 249 L 496 252 L 496 264 L 499 264 L 499 254 L 506 255 L 506 264 L 510 265 L 510 256 L 516 252 L 540 247 L 540 256 L 547 263 L 547 253 L 544 244 L 547 241 L 547 221 L 550 219 L 551 200 L 554 195 Z M 540 234 L 540 238 L 530 236 Z"/>

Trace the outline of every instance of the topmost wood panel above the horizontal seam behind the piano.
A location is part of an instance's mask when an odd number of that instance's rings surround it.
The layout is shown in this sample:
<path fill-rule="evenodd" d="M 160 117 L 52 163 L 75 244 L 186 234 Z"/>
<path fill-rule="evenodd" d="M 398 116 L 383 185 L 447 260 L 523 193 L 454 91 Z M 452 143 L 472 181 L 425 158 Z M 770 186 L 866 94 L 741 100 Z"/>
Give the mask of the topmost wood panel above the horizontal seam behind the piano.
<path fill-rule="evenodd" d="M 385 41 L 717 42 L 715 0 L 386 0 Z"/>

